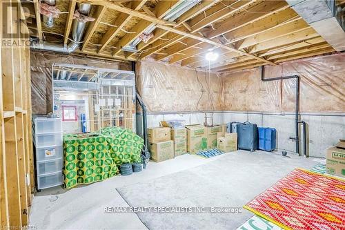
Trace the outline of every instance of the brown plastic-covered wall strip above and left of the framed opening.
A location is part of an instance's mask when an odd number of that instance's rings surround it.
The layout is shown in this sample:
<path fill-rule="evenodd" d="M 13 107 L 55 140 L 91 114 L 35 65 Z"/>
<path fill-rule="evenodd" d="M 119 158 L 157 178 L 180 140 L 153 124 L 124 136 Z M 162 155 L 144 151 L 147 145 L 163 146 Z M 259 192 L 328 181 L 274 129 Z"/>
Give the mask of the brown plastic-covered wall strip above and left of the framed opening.
<path fill-rule="evenodd" d="M 30 55 L 32 115 L 46 115 L 52 112 L 52 64 L 75 64 L 131 70 L 128 62 L 106 61 L 52 52 L 31 51 Z"/>

